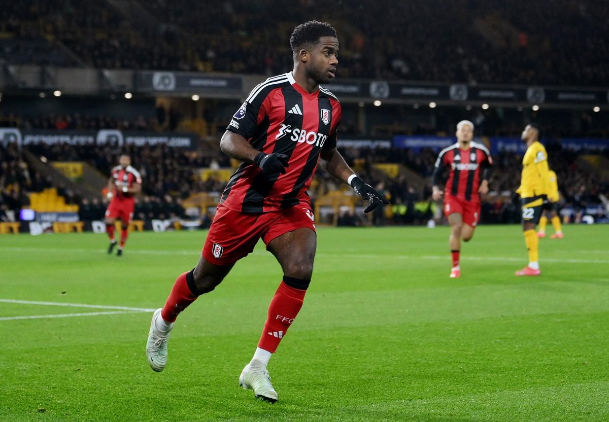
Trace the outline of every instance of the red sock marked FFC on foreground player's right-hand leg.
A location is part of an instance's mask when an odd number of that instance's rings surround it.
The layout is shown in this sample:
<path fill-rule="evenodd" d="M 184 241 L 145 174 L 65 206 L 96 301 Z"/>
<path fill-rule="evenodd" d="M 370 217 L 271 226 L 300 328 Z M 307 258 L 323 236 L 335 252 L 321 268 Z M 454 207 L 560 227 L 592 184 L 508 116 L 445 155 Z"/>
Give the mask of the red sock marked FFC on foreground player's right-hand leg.
<path fill-rule="evenodd" d="M 258 342 L 259 348 L 275 353 L 279 342 L 302 308 L 305 294 L 306 290 L 294 289 L 281 281 L 273 300 L 270 301 L 267 321 Z"/>

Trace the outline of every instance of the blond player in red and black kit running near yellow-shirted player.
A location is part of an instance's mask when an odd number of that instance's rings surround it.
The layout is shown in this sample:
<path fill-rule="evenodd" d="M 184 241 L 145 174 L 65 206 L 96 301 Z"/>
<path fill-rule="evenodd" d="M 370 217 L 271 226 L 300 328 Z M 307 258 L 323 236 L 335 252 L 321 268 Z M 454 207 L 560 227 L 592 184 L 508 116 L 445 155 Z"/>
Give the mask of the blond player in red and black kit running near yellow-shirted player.
<path fill-rule="evenodd" d="M 470 241 L 480 220 L 480 195 L 488 192 L 490 166 L 493 164 L 487 147 L 473 142 L 474 124 L 468 120 L 457 124 L 457 143 L 440 152 L 435 161 L 432 184 L 432 198 L 437 201 L 444 197 L 444 214 L 451 225 L 449 245 L 452 254 L 451 278 L 461 275 L 459 254 L 461 239 Z M 446 167 L 450 167 L 450 175 L 444 192 L 440 191 L 440 179 Z M 482 183 L 481 183 L 481 169 Z"/>

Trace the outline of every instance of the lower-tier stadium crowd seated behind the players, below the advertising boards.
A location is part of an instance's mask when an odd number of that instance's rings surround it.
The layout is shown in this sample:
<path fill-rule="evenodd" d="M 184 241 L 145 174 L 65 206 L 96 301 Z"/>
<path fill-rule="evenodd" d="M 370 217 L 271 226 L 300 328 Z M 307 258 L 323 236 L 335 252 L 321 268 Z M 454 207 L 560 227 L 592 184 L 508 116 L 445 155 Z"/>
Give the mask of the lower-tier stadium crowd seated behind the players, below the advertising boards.
<path fill-rule="evenodd" d="M 27 146 L 36 156 L 48 161 L 85 161 L 101 174 L 109 175 L 118 163 L 121 153 L 132 156 L 132 165 L 141 172 L 144 184 L 135 209 L 136 219 L 175 219 L 185 216 L 183 200 L 194 192 L 222 192 L 225 181 L 209 178 L 203 181 L 199 169 L 228 167 L 230 161 L 220 152 L 184 151 L 167 146 L 113 146 L 69 144 L 35 144 Z M 431 200 L 429 177 L 437 152 L 424 148 L 418 152 L 409 149 L 354 149 L 339 148 L 347 163 L 357 169 L 365 180 L 391 199 L 392 223 L 425 223 L 438 217 L 437 204 Z M 590 205 L 607 205 L 609 182 L 580 167 L 577 155 L 557 148 L 549 148 L 550 164 L 557 172 L 561 203 L 576 211 Z M 54 186 L 66 198 L 66 203 L 80 205 L 80 217 L 85 220 L 103 219 L 107 206 L 105 197 L 81 199 L 62 184 L 53 183 L 32 171 L 19 155 L 14 144 L 0 146 L 0 219 L 15 219 L 19 209 L 29 205 L 27 194 L 40 192 Z M 482 221 L 485 223 L 509 223 L 519 221 L 518 187 L 521 157 L 515 153 L 501 153 L 495 157 L 495 171 L 491 179 L 491 192 L 482 205 Z M 401 173 L 389 177 L 374 163 L 399 163 L 418 173 L 423 185 L 409 183 L 409 177 Z M 339 181 L 320 171 L 309 191 L 313 202 L 331 191 L 345 189 Z M 339 216 L 339 224 L 356 225 L 361 219 L 345 210 Z M 388 223 L 384 210 L 373 214 L 373 223 Z"/>

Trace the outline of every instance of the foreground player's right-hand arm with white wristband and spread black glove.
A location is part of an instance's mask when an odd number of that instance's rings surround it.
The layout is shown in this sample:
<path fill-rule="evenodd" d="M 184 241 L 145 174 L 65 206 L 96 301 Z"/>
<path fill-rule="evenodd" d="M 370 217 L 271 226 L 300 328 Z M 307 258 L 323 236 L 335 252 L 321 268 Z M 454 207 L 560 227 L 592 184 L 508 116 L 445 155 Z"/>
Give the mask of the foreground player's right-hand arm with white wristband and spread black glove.
<path fill-rule="evenodd" d="M 351 167 L 345 162 L 345 158 L 340 155 L 336 147 L 331 149 L 322 149 L 322 166 L 329 175 L 336 177 L 338 180 L 351 186 L 359 197 L 368 201 L 368 206 L 364 209 L 364 213 L 370 213 L 379 203 L 389 203 L 375 188 L 365 183 L 362 178 L 357 177 Z"/>

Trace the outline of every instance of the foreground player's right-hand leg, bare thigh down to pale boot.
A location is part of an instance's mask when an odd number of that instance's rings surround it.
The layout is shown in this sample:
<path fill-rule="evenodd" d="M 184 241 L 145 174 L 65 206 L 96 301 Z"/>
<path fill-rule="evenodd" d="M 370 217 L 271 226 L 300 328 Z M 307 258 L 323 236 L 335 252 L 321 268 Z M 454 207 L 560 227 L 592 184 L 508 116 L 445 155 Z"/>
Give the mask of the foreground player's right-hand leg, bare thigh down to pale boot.
<path fill-rule="evenodd" d="M 281 234 L 267 244 L 283 269 L 283 280 L 270 302 L 258 347 L 252 360 L 245 365 L 239 383 L 245 389 L 254 390 L 256 397 L 271 403 L 278 395 L 270 383 L 267 364 L 302 308 L 311 283 L 316 245 L 317 236 L 309 228 Z"/>

